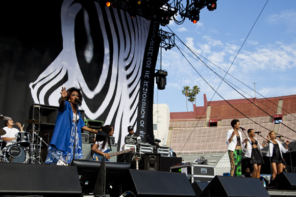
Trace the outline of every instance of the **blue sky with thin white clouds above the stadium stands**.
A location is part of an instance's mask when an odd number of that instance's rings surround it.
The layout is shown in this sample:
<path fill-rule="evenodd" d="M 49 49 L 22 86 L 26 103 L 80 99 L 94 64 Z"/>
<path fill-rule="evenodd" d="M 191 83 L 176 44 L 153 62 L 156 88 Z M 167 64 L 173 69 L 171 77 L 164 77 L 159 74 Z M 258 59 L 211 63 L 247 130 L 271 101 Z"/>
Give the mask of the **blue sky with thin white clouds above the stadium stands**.
<path fill-rule="evenodd" d="M 245 97 L 255 97 L 254 82 L 256 82 L 256 92 L 264 97 L 296 94 L 294 76 L 296 74 L 296 1 L 269 0 L 267 4 L 266 2 L 267 0 L 218 0 L 216 10 L 212 12 L 207 8 L 201 10 L 198 23 L 193 24 L 186 19 L 181 25 L 170 21 L 167 26 L 188 47 L 205 57 L 207 60 L 198 55 L 217 74 L 224 77 L 225 72 L 220 69 L 227 71 L 230 68 L 228 72 L 230 75 L 251 88 L 229 75 L 226 76 L 226 79 L 236 86 L 234 88 Z M 180 16 L 177 17 L 180 19 Z M 163 31 L 170 32 L 167 27 L 161 26 L 161 28 Z M 192 55 L 177 40 L 176 37 L 175 42 L 178 47 Z M 184 51 L 192 66 L 216 90 L 221 79 Z M 157 69 L 159 65 L 158 61 Z M 191 67 L 177 47 L 167 51 L 162 50 L 162 69 L 167 70 L 168 73 L 167 85 L 165 90 L 157 90 L 155 85 L 154 103 L 167 103 L 170 112 L 187 111 L 186 97 L 182 95 L 184 86 L 200 87 L 201 92 L 197 95 L 196 106 L 203 106 L 203 94 L 207 95 L 208 101 L 213 97 L 212 88 Z M 225 99 L 244 98 L 225 82 L 221 83 L 217 92 Z M 258 93 L 257 98 L 262 98 Z M 215 95 L 212 100 L 223 100 L 223 98 Z M 188 110 L 193 110 L 190 102 L 188 102 Z"/>

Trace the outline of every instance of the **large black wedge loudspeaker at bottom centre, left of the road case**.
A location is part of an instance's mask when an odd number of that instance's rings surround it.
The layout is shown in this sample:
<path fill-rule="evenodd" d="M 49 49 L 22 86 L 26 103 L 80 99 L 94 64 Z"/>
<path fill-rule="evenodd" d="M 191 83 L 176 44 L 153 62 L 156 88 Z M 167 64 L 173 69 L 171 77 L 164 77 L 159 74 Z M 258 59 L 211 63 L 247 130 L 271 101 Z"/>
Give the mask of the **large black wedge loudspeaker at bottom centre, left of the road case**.
<path fill-rule="evenodd" d="M 136 196 L 195 196 L 184 173 L 129 170 L 124 190 Z"/>

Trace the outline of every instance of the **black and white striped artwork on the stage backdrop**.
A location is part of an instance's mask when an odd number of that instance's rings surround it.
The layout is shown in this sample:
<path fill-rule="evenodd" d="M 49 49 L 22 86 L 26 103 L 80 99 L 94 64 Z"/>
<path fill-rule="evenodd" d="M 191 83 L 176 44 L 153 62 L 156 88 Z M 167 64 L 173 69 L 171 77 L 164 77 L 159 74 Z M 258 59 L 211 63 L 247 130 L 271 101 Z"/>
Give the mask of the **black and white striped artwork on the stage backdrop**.
<path fill-rule="evenodd" d="M 131 18 L 119 9 L 93 1 L 65 0 L 61 8 L 63 48 L 30 83 L 34 102 L 58 106 L 61 87 L 82 88 L 85 118 L 113 125 L 116 141 L 122 144 L 129 125 L 137 131 L 150 28 L 151 21 Z"/>

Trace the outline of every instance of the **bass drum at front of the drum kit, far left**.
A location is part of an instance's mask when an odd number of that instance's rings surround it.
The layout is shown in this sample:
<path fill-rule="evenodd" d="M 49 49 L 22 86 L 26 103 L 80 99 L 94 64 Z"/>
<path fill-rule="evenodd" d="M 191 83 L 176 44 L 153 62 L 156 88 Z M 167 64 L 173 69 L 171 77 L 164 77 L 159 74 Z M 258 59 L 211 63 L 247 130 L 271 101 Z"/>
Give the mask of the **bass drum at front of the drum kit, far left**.
<path fill-rule="evenodd" d="M 26 161 L 26 151 L 19 145 L 9 145 L 5 153 L 6 162 L 23 163 Z"/>

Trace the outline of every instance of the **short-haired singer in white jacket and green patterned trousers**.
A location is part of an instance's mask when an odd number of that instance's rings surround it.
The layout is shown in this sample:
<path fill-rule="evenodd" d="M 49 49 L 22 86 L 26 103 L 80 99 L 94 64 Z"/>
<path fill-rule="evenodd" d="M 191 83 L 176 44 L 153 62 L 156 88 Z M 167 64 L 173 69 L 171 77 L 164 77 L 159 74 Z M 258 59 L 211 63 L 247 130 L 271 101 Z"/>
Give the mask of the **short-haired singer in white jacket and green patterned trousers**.
<path fill-rule="evenodd" d="M 246 143 L 248 139 L 242 141 L 241 132 L 238 131 L 240 123 L 239 120 L 231 121 L 232 129 L 226 133 L 226 144 L 228 145 L 228 155 L 230 159 L 230 176 L 241 176 L 241 159 L 242 159 L 242 144 Z"/>

